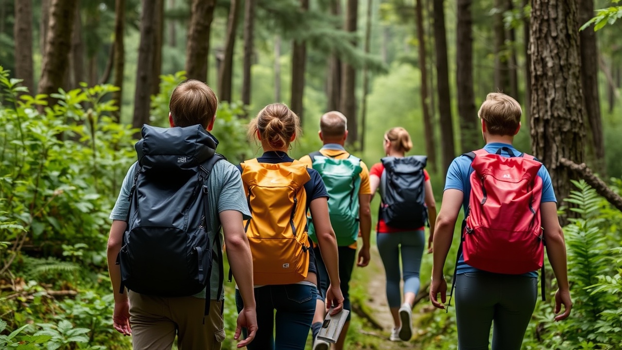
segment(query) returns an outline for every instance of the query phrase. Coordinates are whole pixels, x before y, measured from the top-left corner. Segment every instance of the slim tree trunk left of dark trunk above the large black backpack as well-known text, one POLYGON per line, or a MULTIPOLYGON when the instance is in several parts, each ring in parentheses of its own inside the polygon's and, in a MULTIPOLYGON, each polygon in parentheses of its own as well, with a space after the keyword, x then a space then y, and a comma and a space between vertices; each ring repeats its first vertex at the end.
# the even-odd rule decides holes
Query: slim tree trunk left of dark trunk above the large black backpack
POLYGON ((123 44, 125 22, 125 0, 114 1, 114 86, 119 90, 113 92, 112 98, 119 109, 112 113, 113 120, 121 120, 121 103, 123 98, 123 73, 125 69, 125 45, 123 44))

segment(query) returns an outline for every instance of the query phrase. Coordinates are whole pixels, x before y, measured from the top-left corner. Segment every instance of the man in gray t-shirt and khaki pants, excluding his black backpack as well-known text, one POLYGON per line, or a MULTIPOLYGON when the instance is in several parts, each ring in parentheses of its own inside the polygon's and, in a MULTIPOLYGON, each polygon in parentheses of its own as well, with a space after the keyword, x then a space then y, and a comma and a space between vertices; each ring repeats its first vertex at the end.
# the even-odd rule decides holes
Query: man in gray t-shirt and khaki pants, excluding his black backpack
MULTIPOLYGON (((170 97, 170 126, 183 128, 201 125, 198 130, 205 129, 206 135, 203 136, 207 136, 205 139, 211 138, 210 143, 213 145, 211 152, 213 152, 218 141, 209 131, 214 126, 217 106, 216 95, 207 84, 198 80, 182 82, 170 97)), ((179 140, 179 144, 184 142, 185 140, 179 140)), ((213 260, 211 275, 208 277, 210 290, 204 289, 198 295, 167 298, 144 295, 131 290, 119 293, 121 269, 115 262, 123 244, 124 231, 128 227, 126 221, 130 210, 128 197, 132 186, 135 185, 134 174, 137 174, 139 166, 137 162, 129 169, 110 214, 113 224, 108 238, 108 271, 114 291, 113 326, 121 334, 132 335, 135 350, 170 350, 175 336, 178 338, 177 345, 180 350, 219 350, 221 342, 225 339, 225 327, 223 295, 216 295, 222 288, 217 259, 213 260), (206 300, 206 293, 210 293, 210 300, 206 300), (210 303, 208 315, 205 315, 205 303, 210 303)), ((207 179, 207 187, 209 218, 205 220, 208 219, 209 225, 204 229, 209 242, 223 242, 220 237, 222 226, 231 270, 244 300, 244 310, 239 313, 234 338, 239 338, 242 327, 247 328, 248 337, 238 344, 239 347, 246 346, 253 340, 257 329, 253 295, 253 261, 243 227, 243 219, 249 219, 250 213, 242 181, 233 164, 225 160, 217 161, 207 179)), ((175 212, 181 209, 170 208, 170 210, 175 212)), ((200 228, 203 229, 202 226, 200 228)), ((222 247, 215 246, 214 249, 222 247)))

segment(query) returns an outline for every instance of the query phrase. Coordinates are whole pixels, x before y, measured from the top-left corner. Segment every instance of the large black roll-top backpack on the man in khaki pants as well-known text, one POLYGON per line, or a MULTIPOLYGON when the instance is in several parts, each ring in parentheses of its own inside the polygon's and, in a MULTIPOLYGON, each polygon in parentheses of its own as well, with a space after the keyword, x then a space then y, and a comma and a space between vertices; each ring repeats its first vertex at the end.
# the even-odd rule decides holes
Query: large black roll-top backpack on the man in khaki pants
POLYGON ((210 242, 207 179, 223 156, 218 141, 200 125, 144 125, 136 143, 138 164, 129 194, 128 227, 117 263, 121 288, 154 296, 190 296, 206 290, 209 313, 211 265, 223 257, 220 230, 210 242))

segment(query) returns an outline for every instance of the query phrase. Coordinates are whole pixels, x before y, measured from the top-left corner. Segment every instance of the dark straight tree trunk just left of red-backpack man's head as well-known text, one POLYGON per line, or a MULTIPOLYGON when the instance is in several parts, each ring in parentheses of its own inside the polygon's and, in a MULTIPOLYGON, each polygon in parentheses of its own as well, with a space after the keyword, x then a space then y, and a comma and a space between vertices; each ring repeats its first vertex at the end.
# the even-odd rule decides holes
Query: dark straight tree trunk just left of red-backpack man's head
POLYGON ((456 26, 456 82, 458 90, 458 116, 460 116, 460 141, 462 152, 478 149, 481 134, 475 109, 473 92, 473 37, 471 31, 471 0, 458 0, 456 26))

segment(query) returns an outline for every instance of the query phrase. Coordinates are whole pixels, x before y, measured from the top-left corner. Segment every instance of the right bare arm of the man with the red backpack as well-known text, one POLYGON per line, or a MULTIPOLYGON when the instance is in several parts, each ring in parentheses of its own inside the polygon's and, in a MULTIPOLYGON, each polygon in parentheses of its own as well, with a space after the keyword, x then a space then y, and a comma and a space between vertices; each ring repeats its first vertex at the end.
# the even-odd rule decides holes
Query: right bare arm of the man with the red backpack
POLYGON ((557 219, 557 204, 544 202, 540 206, 542 228, 544 229, 544 242, 550 267, 553 268, 558 290, 555 293, 555 313, 559 314, 561 305, 564 304, 564 313, 555 316, 555 321, 560 321, 570 315, 572 300, 570 299, 570 286, 568 283, 568 270, 566 260, 566 245, 564 231, 557 219))

